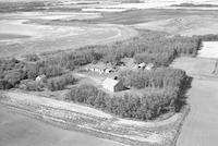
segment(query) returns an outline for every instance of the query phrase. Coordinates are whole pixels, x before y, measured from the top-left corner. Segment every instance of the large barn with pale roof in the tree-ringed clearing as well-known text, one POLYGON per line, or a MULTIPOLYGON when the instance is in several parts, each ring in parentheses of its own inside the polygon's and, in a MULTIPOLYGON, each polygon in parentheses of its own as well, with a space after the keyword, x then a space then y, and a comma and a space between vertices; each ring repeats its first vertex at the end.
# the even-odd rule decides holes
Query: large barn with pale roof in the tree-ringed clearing
POLYGON ((112 78, 106 78, 102 82, 102 87, 107 90, 110 90, 112 93, 120 92, 124 89, 124 85, 122 82, 118 80, 112 80, 112 78))

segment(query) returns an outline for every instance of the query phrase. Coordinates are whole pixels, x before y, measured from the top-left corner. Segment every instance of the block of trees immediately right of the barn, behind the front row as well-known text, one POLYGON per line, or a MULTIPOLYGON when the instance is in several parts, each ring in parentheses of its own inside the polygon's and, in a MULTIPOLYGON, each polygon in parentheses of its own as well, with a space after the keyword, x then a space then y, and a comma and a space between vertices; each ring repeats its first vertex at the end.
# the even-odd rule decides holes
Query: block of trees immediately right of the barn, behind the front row
POLYGON ((125 86, 130 87, 167 88, 181 87, 186 80, 186 74, 184 71, 179 69, 158 68, 153 71, 122 71, 119 73, 119 78, 125 86))

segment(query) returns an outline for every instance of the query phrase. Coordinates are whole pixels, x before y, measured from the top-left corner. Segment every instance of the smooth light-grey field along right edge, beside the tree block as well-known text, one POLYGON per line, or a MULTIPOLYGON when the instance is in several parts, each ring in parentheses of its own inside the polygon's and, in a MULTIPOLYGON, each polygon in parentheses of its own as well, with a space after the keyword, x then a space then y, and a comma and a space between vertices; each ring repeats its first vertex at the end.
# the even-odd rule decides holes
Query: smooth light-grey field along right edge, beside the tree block
POLYGON ((218 78, 211 74, 209 59, 179 59, 172 64, 194 77, 187 93, 191 111, 178 139, 178 146, 218 145, 218 78), (192 61, 191 61, 192 60, 192 61))

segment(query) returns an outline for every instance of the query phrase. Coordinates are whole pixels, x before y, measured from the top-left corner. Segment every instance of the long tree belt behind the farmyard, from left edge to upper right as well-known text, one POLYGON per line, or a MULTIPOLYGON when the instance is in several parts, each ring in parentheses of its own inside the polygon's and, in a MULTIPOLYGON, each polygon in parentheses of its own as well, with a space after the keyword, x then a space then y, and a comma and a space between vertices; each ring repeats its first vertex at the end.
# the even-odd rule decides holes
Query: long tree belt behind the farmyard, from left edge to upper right
POLYGON ((136 63, 167 66, 178 56, 195 56, 201 40, 198 37, 169 36, 166 33, 146 31, 129 40, 105 46, 86 46, 72 52, 60 52, 45 60, 35 56, 29 57, 32 62, 1 59, 0 88, 16 87, 22 80, 35 80, 41 74, 48 78, 60 76, 92 62, 118 64, 125 57, 134 58, 136 63))

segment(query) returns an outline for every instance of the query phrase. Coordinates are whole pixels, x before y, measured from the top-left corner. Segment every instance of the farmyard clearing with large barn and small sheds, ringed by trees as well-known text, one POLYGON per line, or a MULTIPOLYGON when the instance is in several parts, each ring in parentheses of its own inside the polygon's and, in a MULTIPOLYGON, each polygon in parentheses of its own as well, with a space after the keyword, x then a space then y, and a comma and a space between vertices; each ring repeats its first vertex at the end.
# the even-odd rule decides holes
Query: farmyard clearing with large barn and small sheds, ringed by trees
POLYGON ((126 89, 126 87, 122 84, 118 78, 119 71, 122 70, 147 70, 150 71, 155 69, 155 64, 153 63, 134 63, 133 60, 125 60, 122 63, 117 65, 106 64, 106 63, 97 63, 97 64, 88 64, 83 68, 86 76, 90 78, 99 80, 100 86, 104 89, 107 89, 111 93, 117 93, 126 89))

